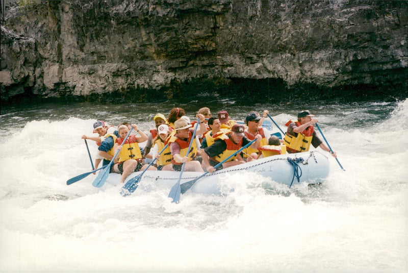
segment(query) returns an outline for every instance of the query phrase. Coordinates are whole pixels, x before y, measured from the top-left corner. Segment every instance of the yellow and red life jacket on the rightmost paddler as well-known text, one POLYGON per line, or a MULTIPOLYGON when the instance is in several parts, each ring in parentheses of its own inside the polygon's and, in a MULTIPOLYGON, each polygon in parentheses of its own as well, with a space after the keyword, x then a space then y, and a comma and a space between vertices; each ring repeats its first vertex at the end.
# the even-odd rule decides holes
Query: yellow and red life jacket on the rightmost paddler
MULTIPOLYGON (((295 120, 289 120, 285 126, 289 126, 291 122, 295 122, 299 127, 301 123, 295 120)), ((314 128, 313 125, 306 128, 300 133, 297 133, 297 136, 289 135, 288 132, 285 133, 284 143, 286 145, 287 151, 289 153, 299 153, 299 152, 308 152, 310 144, 312 143, 314 128)))

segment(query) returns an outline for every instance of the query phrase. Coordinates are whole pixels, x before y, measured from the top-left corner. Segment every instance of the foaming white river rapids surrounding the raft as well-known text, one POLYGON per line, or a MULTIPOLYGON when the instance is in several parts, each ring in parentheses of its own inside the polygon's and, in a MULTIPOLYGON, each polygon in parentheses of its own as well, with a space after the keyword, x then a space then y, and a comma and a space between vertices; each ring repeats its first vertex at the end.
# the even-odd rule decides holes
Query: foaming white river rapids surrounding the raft
MULTIPOLYGON (((0 116, 2 272, 406 272, 408 269, 408 100, 240 106, 47 104, 8 107, 0 116), (186 193, 170 202, 152 185, 122 197, 93 187, 82 134, 96 119, 136 122, 147 132, 157 112, 200 107, 243 119, 270 111, 284 124, 316 114, 342 171, 330 157, 321 186, 287 186, 241 172, 225 196, 186 193)), ((97 148, 88 141, 94 159, 97 148)))

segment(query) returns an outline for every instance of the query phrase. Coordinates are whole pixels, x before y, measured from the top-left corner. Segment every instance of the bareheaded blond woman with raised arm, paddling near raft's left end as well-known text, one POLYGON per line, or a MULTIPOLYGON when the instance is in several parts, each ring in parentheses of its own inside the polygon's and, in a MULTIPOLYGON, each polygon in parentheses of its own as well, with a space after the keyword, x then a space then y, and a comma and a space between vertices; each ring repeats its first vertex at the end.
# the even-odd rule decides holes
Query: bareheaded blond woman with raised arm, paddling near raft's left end
MULTIPOLYGON (((140 152, 140 147, 138 142, 143 142, 147 140, 147 136, 139 128, 132 124, 133 129, 140 134, 136 136, 130 134, 127 139, 124 139, 129 132, 129 129, 125 125, 121 125, 118 128, 119 137, 116 139, 114 145, 114 153, 120 149, 119 155, 115 158, 113 165, 113 172, 120 173, 122 177, 119 183, 123 183, 126 177, 128 177, 132 172, 143 170, 147 165, 142 163, 142 153, 140 152), (124 141, 123 145, 122 142, 124 141)), ((150 166, 149 169, 156 169, 154 166, 150 166)))

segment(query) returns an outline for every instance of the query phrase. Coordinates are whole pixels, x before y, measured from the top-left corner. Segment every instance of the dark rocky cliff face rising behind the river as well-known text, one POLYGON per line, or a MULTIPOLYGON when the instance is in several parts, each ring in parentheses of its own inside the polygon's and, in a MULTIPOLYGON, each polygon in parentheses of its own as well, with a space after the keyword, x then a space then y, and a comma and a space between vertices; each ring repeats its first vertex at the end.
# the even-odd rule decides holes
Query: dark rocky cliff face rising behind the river
POLYGON ((406 1, 370 0, 14 3, 1 28, 2 101, 102 93, 143 101, 186 95, 188 85, 403 97, 407 10, 406 1))

